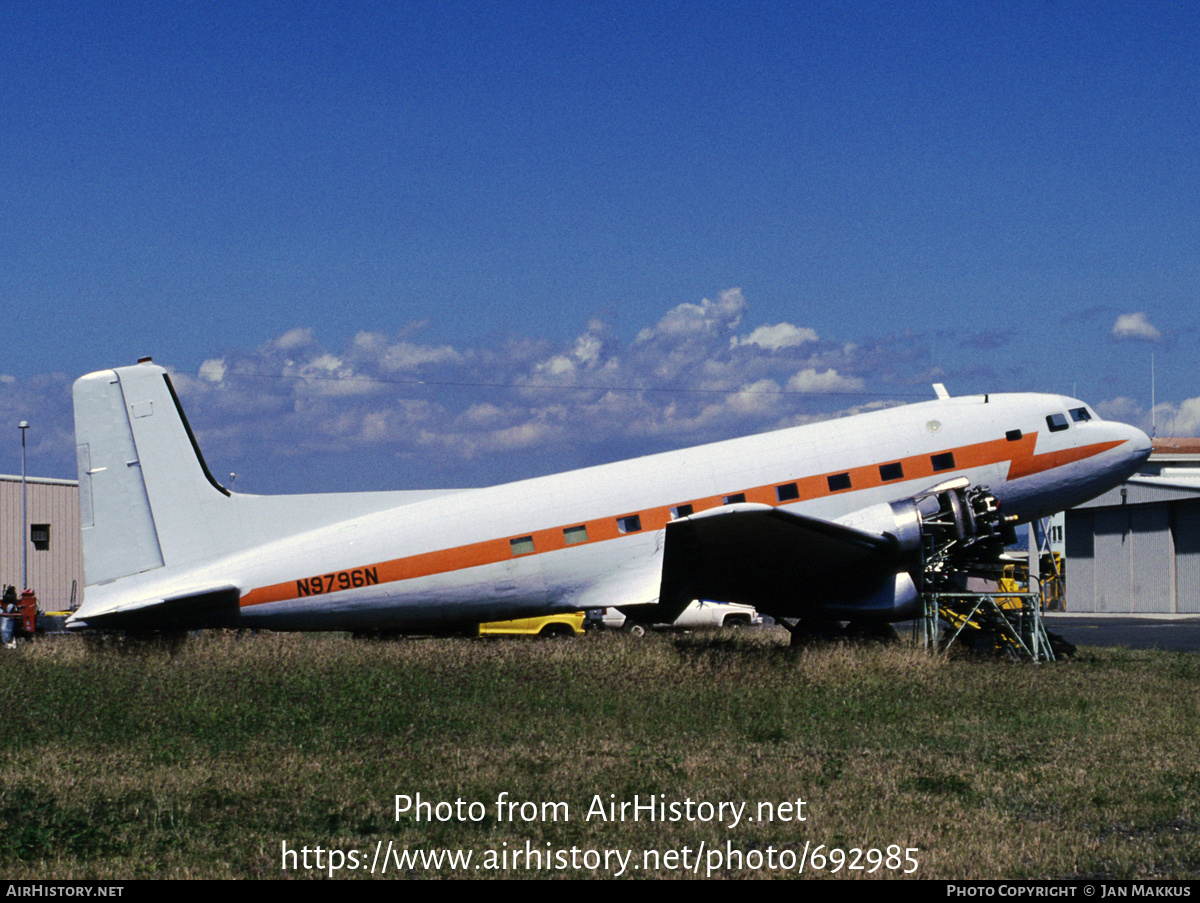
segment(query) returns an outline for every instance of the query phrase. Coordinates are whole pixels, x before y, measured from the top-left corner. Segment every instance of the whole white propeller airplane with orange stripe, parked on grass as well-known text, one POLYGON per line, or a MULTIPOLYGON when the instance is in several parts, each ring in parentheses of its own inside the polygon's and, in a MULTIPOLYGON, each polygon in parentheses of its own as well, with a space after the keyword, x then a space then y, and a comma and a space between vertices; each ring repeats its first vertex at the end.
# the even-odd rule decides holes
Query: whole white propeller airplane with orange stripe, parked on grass
POLYGON ((929 549, 994 546, 1150 455, 1074 399, 935 389, 488 489, 253 496, 212 478, 161 366, 91 373, 74 384, 86 590, 68 627, 418 632, 646 604, 670 622, 697 598, 904 620, 929 549))

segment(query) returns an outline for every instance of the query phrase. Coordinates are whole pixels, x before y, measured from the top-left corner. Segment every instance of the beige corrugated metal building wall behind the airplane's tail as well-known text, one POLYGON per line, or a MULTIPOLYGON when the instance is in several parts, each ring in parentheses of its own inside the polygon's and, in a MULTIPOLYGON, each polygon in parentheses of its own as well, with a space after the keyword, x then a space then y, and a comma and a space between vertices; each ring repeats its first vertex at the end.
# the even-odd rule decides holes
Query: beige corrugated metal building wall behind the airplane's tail
POLYGON ((20 591, 22 539, 29 549, 29 585, 43 611, 62 611, 71 604, 76 582, 83 598, 83 549, 79 540, 79 489, 73 483, 29 480, 30 524, 49 524, 47 549, 36 549, 22 537, 20 477, 0 477, 0 585, 20 591))

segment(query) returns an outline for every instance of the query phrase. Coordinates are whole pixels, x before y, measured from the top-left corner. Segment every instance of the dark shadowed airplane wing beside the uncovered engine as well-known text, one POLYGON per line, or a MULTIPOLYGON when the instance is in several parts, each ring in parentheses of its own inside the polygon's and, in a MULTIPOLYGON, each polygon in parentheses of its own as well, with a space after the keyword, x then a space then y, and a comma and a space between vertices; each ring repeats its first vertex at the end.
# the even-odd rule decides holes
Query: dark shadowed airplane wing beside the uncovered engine
MULTIPOLYGON (((780 617, 870 615, 907 594, 898 585, 899 544, 888 533, 794 514, 766 504, 731 504, 666 527, 660 616, 692 599, 739 602, 780 617)), ((910 584, 911 584, 911 579, 910 584)))

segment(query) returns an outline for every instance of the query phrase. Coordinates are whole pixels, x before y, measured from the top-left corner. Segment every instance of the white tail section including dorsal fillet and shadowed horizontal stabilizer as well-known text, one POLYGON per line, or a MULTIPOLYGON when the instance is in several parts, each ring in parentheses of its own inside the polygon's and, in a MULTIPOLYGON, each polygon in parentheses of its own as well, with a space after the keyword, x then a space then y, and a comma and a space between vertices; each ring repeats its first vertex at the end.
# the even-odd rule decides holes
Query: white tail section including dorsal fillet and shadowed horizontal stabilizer
POLYGON ((149 361, 74 384, 83 606, 72 629, 235 622, 258 546, 439 492, 230 494, 204 464, 170 377, 149 361))

